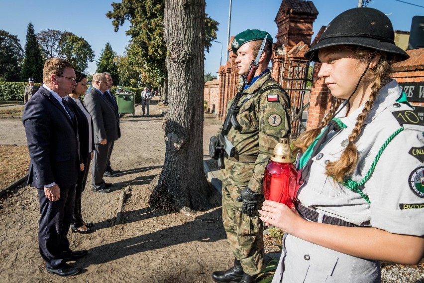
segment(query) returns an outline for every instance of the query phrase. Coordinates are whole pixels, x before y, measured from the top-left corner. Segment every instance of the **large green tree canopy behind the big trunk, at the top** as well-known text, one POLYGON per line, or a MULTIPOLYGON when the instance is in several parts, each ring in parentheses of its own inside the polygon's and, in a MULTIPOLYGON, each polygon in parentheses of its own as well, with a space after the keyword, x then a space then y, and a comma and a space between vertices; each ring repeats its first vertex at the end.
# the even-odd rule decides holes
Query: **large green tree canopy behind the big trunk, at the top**
MULTIPOLYGON (((106 16, 112 19, 115 31, 125 20, 131 23, 126 34, 132 40, 128 48, 128 63, 139 68, 141 80, 152 85, 162 85, 167 78, 165 59, 166 45, 163 37, 163 18, 165 0, 122 0, 113 2, 113 11, 106 16)), ((218 22, 207 14, 205 16, 205 49, 209 52, 212 41, 216 39, 218 22)))

